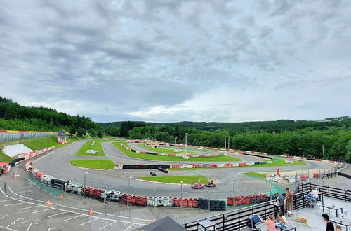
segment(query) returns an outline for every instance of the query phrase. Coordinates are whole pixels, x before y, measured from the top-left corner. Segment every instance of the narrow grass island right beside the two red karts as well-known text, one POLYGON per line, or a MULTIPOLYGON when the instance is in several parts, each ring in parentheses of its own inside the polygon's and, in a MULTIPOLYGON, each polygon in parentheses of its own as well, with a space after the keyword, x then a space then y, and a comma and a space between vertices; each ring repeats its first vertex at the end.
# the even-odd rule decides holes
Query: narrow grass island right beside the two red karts
POLYGON ((210 181, 204 176, 145 176, 139 177, 139 179, 164 183, 180 183, 180 181, 183 181, 185 184, 207 183, 210 181))

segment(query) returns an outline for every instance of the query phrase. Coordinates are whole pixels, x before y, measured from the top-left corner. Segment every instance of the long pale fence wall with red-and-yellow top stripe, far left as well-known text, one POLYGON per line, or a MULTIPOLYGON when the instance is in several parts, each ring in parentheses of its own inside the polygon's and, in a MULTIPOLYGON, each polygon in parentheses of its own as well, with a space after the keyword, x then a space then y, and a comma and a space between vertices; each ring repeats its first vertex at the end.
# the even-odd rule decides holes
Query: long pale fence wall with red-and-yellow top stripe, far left
POLYGON ((14 139, 47 137, 47 136, 52 136, 57 134, 58 134, 57 132, 0 130, 0 142, 11 141, 14 139))

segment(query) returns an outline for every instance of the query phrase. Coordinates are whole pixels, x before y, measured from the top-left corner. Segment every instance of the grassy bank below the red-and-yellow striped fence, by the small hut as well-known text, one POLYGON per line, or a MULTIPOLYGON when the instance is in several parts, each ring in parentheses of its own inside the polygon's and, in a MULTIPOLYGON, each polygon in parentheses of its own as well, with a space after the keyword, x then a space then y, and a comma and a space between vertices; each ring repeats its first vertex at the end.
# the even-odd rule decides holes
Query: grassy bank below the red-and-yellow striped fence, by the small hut
POLYGON ((77 137, 72 137, 69 138, 71 141, 68 142, 67 144, 58 144, 58 139, 55 136, 50 136, 50 137, 42 137, 38 139, 31 139, 27 141, 23 141, 23 144, 27 146, 28 148, 32 150, 41 150, 43 148, 48 148, 51 146, 55 146, 55 148, 60 148, 63 146, 67 146, 68 144, 71 144, 73 141, 78 140, 79 138, 77 137))

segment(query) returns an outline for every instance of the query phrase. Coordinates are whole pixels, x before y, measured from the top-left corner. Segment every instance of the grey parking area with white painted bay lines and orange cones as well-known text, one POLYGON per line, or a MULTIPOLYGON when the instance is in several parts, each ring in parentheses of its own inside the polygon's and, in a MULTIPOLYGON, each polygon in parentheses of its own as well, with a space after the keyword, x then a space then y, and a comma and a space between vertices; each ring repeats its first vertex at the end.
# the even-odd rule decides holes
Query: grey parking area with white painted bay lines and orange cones
MULTIPOLYGON (((146 223, 133 219, 112 219, 103 215, 56 209, 15 200, 0 193, 0 230, 134 230, 146 223)), ((150 223, 150 222, 148 222, 150 223)))

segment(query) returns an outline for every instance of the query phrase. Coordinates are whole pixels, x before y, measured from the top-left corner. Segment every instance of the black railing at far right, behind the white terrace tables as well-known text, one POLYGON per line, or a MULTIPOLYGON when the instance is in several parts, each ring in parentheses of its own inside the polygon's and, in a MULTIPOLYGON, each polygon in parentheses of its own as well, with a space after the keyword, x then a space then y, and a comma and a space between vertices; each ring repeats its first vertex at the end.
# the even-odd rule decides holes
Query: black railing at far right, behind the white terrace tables
POLYGON ((298 185, 298 192, 305 190, 311 190, 312 187, 315 187, 319 192, 323 193, 326 197, 331 197, 339 200, 345 200, 345 202, 351 202, 351 190, 347 188, 336 188, 333 186, 322 186, 315 183, 300 183, 298 185))

